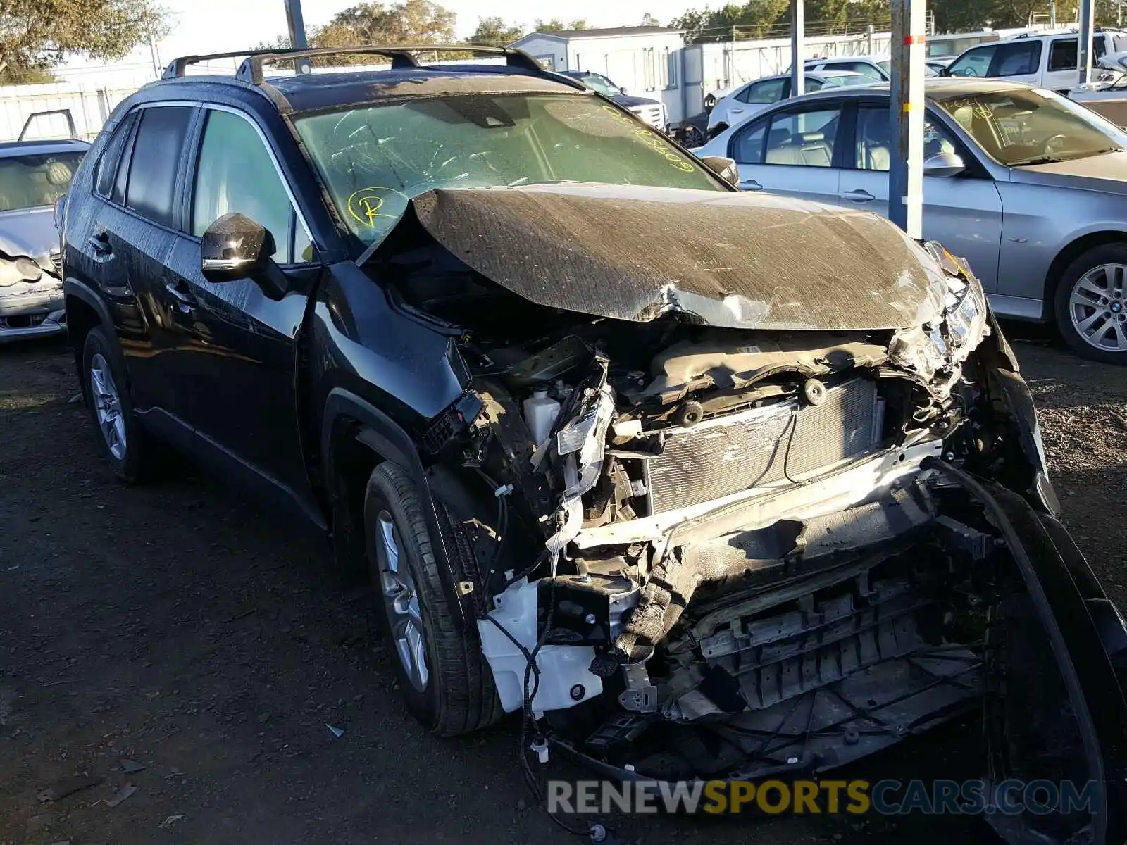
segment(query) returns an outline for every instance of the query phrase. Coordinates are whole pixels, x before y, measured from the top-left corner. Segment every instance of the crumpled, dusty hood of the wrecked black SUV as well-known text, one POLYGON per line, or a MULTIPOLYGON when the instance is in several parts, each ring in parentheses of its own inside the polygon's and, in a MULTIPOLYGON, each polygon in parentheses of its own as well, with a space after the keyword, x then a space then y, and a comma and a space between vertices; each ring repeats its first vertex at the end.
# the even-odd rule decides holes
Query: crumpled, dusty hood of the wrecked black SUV
POLYGON ((942 313, 934 261, 868 212, 771 195, 554 184, 432 190, 423 226, 532 302, 646 322, 899 329, 942 313))

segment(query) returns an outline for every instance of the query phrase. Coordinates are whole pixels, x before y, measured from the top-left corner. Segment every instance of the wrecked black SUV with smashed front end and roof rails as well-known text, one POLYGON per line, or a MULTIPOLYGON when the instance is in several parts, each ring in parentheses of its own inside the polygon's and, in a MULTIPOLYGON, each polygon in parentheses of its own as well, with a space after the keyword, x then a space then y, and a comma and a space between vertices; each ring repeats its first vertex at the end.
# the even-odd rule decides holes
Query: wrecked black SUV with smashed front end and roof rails
POLYGON ((335 52, 392 64, 176 60, 80 167, 114 473, 160 441, 331 531, 440 735, 521 711, 522 755, 606 776, 814 776, 985 696, 992 779, 1094 802, 1002 835, 1121 842, 1127 629, 966 265, 740 194, 518 51, 335 52))

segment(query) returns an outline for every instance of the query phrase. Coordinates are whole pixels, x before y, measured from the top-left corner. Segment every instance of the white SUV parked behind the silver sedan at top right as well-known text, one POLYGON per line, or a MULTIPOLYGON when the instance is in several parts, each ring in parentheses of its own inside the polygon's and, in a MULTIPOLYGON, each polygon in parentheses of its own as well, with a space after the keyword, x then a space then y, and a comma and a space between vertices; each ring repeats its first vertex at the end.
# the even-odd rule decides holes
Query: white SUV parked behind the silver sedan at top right
MULTIPOLYGON (((1092 34, 1092 66, 1107 53, 1127 51, 1127 33, 1102 29, 1092 34)), ((1080 83, 1080 38, 1075 32, 1019 35, 964 51, 943 77, 1004 77, 1061 94, 1080 83)), ((1093 71, 1094 75, 1108 71, 1093 71)))

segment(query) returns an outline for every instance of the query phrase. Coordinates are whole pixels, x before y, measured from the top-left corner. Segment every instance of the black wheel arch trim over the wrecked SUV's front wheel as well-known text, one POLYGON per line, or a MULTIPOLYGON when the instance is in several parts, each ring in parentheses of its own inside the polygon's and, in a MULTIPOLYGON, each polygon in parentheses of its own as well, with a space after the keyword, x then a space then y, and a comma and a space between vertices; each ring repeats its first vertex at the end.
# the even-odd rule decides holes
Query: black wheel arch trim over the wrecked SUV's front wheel
POLYGON ((423 517, 426 519, 427 531, 431 533, 435 560, 443 573, 442 588, 446 594, 446 604, 454 614, 454 623, 462 629, 473 624, 471 616, 465 613, 462 596, 458 593, 459 579, 450 563, 450 550, 446 548, 444 532, 438 525, 438 514, 434 507, 431 483, 415 442, 398 422, 363 397, 345 388, 332 388, 325 400, 321 416, 321 461, 326 480, 334 478, 334 450, 337 445, 335 433, 338 430, 337 422, 340 419, 358 422, 361 430, 356 439, 382 459, 398 464, 410 474, 423 502, 423 517))

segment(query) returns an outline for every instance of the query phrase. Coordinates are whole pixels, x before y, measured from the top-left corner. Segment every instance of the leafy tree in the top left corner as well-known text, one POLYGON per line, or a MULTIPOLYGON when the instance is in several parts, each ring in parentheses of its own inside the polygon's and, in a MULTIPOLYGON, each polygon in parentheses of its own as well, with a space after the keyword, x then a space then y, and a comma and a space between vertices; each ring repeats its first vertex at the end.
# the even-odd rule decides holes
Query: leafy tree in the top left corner
POLYGON ((168 33, 153 0, 0 0, 0 80, 36 81, 68 56, 121 59, 168 33))

